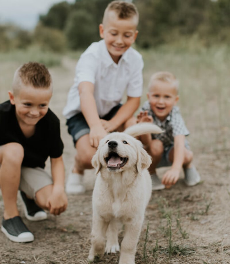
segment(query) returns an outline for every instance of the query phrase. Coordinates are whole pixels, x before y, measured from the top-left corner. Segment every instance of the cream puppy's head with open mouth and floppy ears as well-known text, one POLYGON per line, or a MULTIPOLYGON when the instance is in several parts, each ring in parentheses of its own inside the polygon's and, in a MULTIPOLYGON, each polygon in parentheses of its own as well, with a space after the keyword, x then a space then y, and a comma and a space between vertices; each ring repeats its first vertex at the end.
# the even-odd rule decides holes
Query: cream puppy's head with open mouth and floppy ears
MULTIPOLYGON (((151 158, 143 149, 141 141, 127 133, 113 132, 101 139, 95 155, 92 158, 92 165, 96 173, 101 171, 102 177, 110 178, 111 173, 132 172, 135 177, 144 168, 151 164, 151 158), (107 175, 107 176, 106 176, 107 175)), ((129 176, 128 176, 129 177, 129 176)))

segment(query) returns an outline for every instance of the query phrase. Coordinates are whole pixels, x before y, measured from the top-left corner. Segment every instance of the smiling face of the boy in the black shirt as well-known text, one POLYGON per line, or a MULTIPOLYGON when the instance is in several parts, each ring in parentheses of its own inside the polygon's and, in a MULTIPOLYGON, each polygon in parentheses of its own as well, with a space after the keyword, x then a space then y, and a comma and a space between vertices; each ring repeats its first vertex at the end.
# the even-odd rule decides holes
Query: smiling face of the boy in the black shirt
POLYGON ((47 113, 51 96, 51 88, 32 86, 20 88, 16 95, 9 92, 10 102, 15 105, 19 125, 35 126, 47 113))

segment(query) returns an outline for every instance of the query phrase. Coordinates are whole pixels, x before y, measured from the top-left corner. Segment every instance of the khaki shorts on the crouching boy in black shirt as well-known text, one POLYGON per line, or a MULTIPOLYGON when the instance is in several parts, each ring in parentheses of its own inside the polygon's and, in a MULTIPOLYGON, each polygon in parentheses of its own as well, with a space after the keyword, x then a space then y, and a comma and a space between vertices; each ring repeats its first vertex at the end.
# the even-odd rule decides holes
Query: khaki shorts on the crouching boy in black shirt
POLYGON ((51 184, 53 184, 52 177, 44 169, 22 166, 19 190, 26 193, 29 197, 35 199, 37 191, 51 184))

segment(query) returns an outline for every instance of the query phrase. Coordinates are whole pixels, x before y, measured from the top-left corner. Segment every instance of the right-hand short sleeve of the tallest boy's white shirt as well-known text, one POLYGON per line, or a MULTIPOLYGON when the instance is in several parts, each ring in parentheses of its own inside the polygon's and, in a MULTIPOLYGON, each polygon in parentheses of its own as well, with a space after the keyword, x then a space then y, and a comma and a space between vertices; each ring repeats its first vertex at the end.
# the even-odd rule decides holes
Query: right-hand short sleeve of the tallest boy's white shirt
POLYGON ((131 76, 129 79, 129 84, 127 87, 127 96, 130 97, 139 97, 142 95, 142 87, 143 87, 143 76, 142 70, 144 67, 142 57, 137 57, 136 61, 133 61, 133 67, 131 76))

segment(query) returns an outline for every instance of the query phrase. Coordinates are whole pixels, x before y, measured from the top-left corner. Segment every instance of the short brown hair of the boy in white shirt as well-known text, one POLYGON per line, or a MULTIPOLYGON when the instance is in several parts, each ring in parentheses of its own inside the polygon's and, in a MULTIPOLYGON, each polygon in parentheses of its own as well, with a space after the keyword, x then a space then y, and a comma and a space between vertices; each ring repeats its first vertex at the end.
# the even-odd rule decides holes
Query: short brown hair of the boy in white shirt
POLYGON ((137 17, 137 24, 139 21, 139 13, 137 7, 133 3, 128 3, 124 1, 112 1, 108 4, 105 9, 102 23, 105 22, 105 17, 109 11, 115 11, 119 19, 137 17))

